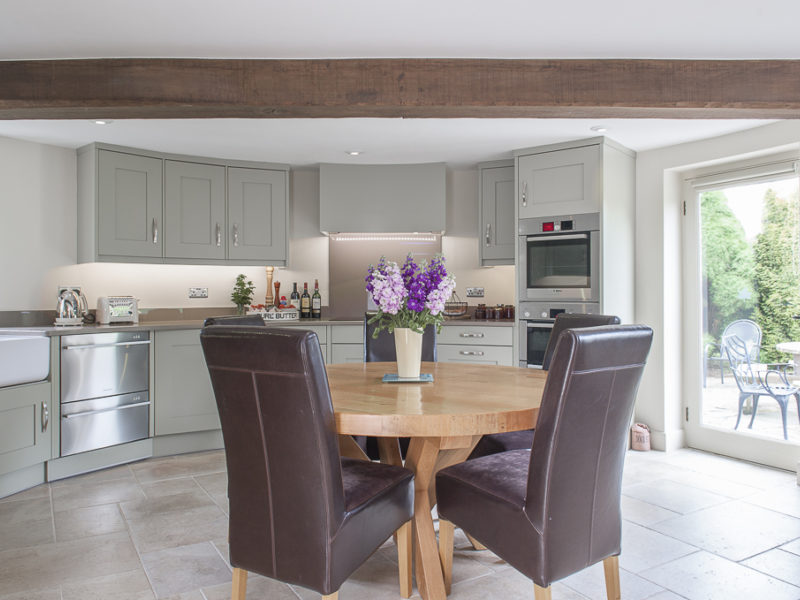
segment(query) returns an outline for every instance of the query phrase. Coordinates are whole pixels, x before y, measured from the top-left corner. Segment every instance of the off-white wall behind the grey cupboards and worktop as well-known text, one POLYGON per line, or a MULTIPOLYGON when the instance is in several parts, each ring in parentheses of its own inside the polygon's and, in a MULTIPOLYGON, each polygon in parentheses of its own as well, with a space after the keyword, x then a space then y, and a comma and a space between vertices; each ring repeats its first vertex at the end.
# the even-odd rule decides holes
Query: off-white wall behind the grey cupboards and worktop
MULTIPOLYGON (((202 265, 76 264, 77 161, 74 150, 0 138, 0 310, 52 310, 59 285, 79 285, 89 301, 134 295, 141 308, 232 305, 236 275, 266 295, 264 267, 202 265), (189 287, 208 287, 207 299, 189 299, 189 287)), ((513 301, 513 267, 478 267, 477 171, 448 175, 448 235, 443 249, 459 290, 486 288, 487 303, 513 301)), ((319 172, 291 174, 290 264, 276 269, 281 293, 291 283, 319 279, 323 304, 328 291, 328 239, 319 232, 319 172)), ((288 288, 288 289, 287 289, 288 288)))

